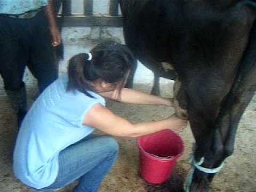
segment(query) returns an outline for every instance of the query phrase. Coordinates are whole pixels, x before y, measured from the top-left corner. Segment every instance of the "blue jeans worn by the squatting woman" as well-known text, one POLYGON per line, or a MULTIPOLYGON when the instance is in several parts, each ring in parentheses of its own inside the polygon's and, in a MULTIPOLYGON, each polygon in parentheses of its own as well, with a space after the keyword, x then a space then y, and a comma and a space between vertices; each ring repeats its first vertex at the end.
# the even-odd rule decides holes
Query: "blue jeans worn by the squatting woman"
POLYGON ((39 190, 54 190, 79 179, 74 192, 97 191, 118 154, 118 143, 108 135, 91 134, 62 150, 59 173, 51 186, 39 190))

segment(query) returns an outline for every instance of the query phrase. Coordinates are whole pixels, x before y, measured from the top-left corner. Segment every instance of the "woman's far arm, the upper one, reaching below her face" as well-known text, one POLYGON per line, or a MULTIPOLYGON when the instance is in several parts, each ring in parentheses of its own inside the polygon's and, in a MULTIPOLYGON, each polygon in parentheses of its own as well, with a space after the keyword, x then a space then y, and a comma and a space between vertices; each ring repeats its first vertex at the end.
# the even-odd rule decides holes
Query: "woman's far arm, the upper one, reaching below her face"
POLYGON ((166 105, 173 107, 173 98, 162 98, 153 94, 143 93, 141 91, 123 88, 118 95, 118 90, 113 92, 99 93, 103 97, 126 103, 148 104, 148 105, 166 105))

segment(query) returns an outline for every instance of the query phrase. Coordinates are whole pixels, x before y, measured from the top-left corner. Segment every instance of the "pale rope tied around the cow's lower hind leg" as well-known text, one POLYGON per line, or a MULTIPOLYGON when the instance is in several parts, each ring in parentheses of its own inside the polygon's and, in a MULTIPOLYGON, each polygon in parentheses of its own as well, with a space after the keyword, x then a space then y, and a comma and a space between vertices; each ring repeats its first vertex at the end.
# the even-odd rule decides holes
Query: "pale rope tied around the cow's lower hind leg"
POLYGON ((192 167, 191 167, 191 170, 189 171, 187 181, 184 184, 184 190, 186 192, 189 192, 190 185, 191 185, 191 182, 192 182, 192 179, 193 179, 193 174, 195 172, 195 168, 198 169, 199 171, 204 172, 204 173, 217 173, 221 170, 221 168, 223 167, 223 164, 224 164, 224 162, 222 162, 219 167, 210 169, 210 168, 200 166, 200 165, 203 164, 203 162, 204 162, 204 157, 202 157, 199 162, 196 162, 195 158, 194 158, 194 155, 193 154, 190 155, 189 163, 191 163, 192 167))

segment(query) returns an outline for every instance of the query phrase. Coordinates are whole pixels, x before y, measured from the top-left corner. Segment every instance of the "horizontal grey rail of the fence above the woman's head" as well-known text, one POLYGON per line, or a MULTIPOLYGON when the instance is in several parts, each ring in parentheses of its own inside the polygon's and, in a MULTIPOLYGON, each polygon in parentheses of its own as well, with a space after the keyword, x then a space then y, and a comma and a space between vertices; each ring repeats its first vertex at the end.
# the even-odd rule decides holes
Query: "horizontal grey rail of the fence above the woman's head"
POLYGON ((61 23, 62 26, 112 26, 120 27, 123 25, 121 16, 109 15, 72 15, 72 16, 59 16, 57 24, 61 23), (61 23, 62 22, 62 23, 61 23))

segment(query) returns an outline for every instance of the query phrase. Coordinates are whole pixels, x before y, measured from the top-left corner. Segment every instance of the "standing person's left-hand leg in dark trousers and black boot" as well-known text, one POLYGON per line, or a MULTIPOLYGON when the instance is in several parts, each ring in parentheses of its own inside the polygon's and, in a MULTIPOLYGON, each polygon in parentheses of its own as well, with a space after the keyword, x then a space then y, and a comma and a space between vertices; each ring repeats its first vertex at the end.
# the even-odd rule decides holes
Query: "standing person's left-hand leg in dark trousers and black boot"
POLYGON ((23 34, 26 34, 23 29, 21 20, 0 16, 0 74, 19 124, 27 111, 25 83, 22 82, 27 55, 22 45, 23 34))

